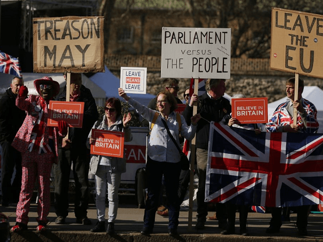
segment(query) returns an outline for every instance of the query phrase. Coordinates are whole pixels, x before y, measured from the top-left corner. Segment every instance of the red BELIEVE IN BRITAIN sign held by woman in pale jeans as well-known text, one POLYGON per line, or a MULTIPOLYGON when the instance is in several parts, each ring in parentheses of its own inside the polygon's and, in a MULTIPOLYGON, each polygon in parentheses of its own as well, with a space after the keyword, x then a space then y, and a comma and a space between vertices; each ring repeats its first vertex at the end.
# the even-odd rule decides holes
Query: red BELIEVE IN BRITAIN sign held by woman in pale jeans
POLYGON ((95 144, 91 145, 91 154, 123 158, 124 133, 117 131, 92 129, 95 144))

